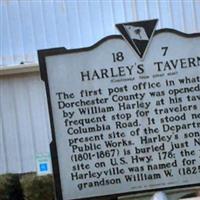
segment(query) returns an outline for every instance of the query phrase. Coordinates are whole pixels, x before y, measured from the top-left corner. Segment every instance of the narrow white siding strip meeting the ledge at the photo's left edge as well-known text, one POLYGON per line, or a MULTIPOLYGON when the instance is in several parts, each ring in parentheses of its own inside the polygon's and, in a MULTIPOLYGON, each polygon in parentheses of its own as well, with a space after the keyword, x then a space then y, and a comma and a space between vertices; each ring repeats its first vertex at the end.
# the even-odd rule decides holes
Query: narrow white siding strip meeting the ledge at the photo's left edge
POLYGON ((14 82, 8 79, 3 81, 1 89, 3 95, 1 96, 1 111, 2 121, 4 127, 4 138, 6 147, 6 160, 9 172, 20 172, 20 152, 18 144, 18 124, 15 112, 15 102, 13 96, 14 82))

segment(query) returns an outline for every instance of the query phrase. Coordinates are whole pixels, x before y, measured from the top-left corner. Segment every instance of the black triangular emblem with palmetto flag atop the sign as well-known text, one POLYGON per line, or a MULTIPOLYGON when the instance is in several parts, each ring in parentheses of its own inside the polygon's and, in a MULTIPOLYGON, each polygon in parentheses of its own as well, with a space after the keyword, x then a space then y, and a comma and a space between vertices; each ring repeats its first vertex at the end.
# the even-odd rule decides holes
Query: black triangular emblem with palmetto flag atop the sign
POLYGON ((116 24, 116 27, 131 48, 139 55, 140 59, 143 59, 153 37, 157 22, 157 19, 153 19, 116 24))

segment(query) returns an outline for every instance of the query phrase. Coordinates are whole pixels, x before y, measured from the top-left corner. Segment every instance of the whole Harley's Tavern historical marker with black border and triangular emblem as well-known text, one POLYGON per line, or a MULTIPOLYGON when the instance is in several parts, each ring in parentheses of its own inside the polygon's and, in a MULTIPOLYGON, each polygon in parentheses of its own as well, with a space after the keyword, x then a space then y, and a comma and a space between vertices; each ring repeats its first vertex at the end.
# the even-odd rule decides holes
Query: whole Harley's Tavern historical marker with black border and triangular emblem
POLYGON ((38 52, 59 200, 199 185, 200 34, 156 23, 38 52))

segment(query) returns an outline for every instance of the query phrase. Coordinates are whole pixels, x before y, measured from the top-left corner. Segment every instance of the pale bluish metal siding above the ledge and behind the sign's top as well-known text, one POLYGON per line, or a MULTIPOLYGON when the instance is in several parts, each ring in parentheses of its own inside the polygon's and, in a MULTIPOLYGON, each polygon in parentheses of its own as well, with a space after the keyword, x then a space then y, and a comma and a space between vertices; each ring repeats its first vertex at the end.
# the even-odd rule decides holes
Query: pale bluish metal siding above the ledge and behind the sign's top
POLYGON ((114 24, 159 18, 158 28, 199 30, 199 1, 1 1, 0 65, 37 62, 37 49, 91 45, 118 33, 114 24))

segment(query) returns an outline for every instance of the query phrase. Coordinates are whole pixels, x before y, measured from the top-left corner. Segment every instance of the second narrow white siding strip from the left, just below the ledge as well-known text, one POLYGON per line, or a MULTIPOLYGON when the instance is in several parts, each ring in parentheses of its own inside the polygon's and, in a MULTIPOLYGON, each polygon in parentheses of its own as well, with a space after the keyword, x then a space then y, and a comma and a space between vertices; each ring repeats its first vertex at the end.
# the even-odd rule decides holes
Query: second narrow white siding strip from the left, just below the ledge
POLYGON ((21 172, 33 171, 34 163, 34 143, 32 137, 32 125, 29 112, 28 88, 27 82, 30 80, 30 76, 24 78, 23 76, 17 76, 15 78, 14 94, 16 105, 16 117, 18 120, 19 129, 19 150, 21 154, 21 172))

